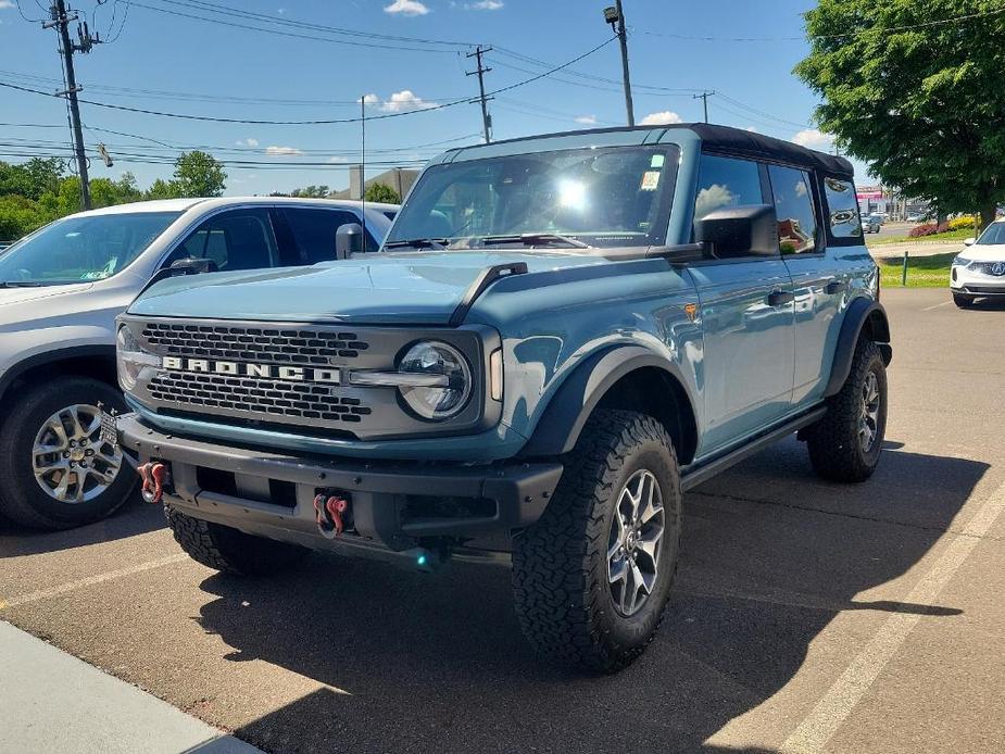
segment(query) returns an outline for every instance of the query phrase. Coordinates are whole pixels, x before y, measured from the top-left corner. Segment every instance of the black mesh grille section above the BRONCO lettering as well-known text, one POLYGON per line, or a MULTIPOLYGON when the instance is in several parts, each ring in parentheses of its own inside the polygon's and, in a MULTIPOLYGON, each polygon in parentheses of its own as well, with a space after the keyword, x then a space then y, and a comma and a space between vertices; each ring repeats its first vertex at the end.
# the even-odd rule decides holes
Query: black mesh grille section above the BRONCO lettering
POLYGON ((369 348, 355 332, 226 325, 149 323, 143 338, 171 356, 281 364, 344 363, 369 348))

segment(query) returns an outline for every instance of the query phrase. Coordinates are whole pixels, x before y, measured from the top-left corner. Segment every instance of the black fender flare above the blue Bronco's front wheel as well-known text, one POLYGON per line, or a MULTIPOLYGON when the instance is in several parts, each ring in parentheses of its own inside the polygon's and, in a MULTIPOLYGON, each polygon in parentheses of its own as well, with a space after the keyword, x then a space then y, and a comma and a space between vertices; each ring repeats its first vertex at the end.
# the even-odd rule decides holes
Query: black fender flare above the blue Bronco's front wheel
MULTIPOLYGON (((679 385, 684 385, 675 364, 646 348, 613 345, 603 349, 576 366, 558 386, 520 455, 554 456, 573 450, 587 419, 611 387, 643 367, 662 369, 679 385)), ((691 411, 693 413, 693 402, 691 411)))

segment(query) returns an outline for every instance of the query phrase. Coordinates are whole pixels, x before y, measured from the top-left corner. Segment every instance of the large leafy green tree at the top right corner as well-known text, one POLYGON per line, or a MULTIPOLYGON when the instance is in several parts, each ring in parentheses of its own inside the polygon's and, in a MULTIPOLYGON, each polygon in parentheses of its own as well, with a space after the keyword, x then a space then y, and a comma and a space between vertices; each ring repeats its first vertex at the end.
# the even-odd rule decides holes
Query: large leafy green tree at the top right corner
POLYGON ((941 211, 978 210, 984 225, 1005 200, 1001 8, 819 0, 805 16, 811 52, 795 67, 824 98, 820 128, 849 154, 941 211))

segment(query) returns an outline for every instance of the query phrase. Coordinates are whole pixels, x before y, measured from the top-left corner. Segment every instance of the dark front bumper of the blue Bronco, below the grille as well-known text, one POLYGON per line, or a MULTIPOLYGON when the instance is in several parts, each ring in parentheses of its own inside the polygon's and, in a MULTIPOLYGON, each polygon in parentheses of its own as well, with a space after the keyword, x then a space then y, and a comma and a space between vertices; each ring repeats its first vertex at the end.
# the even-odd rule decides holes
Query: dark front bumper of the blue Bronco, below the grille
POLYGON ((562 476, 558 463, 445 465, 285 455, 179 438, 118 417, 120 442, 171 470, 164 501, 196 518, 252 535, 329 549, 318 494, 348 497, 347 543, 401 551, 430 538, 474 538, 533 524, 562 476))

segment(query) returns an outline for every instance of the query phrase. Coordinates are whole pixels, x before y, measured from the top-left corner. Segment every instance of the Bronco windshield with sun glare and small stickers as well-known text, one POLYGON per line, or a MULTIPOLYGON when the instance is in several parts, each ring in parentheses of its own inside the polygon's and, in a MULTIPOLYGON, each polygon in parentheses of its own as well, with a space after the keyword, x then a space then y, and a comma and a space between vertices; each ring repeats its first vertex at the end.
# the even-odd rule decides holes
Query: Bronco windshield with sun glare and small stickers
POLYGON ((666 238, 677 158, 676 147, 613 147, 434 165, 387 243, 657 246, 666 238))

